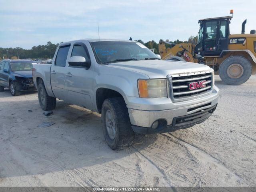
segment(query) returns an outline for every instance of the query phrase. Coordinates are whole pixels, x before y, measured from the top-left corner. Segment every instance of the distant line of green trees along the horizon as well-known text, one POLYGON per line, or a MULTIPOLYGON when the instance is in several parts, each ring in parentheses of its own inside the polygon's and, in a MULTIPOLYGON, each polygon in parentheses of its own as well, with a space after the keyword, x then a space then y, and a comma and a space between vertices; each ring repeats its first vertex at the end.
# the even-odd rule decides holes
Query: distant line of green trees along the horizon
MULTIPOLYGON (((187 41, 184 41, 184 43, 192 42, 194 37, 190 37, 187 41)), ((138 42, 144 44, 147 48, 149 49, 154 49, 155 54, 159 54, 158 52, 158 43, 155 42, 154 40, 148 41, 144 43, 142 40, 137 40, 138 42)), ((183 41, 180 40, 175 40, 175 41, 170 41, 166 40, 167 42, 179 44, 183 43, 183 41)), ((53 44, 52 42, 47 42, 46 45, 38 45, 38 46, 33 46, 31 49, 23 49, 20 47, 16 48, 0 48, 0 59, 36 59, 36 58, 53 58, 54 53, 56 48, 58 47, 57 44, 53 44)), ((166 48, 169 45, 166 44, 166 48)))

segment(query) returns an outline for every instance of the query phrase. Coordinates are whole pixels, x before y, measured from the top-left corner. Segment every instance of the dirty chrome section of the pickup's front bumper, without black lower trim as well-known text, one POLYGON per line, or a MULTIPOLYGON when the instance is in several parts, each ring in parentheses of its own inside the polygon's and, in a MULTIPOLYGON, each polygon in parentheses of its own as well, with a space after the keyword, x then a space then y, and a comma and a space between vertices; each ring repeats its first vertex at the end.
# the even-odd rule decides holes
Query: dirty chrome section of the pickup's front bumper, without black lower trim
POLYGON ((164 120, 166 122, 166 126, 171 126, 173 125, 174 118, 188 116, 190 114, 194 114, 196 112, 200 112, 202 110, 212 108, 216 106, 217 103, 218 103, 218 96, 215 96, 211 100, 207 100, 198 104, 193 104, 193 105, 175 108, 171 110, 149 111, 149 110, 138 110, 138 109, 128 108, 128 112, 130 116, 130 122, 133 128, 137 129, 137 131, 135 132, 140 132, 138 131, 140 127, 150 128, 156 120, 164 120))

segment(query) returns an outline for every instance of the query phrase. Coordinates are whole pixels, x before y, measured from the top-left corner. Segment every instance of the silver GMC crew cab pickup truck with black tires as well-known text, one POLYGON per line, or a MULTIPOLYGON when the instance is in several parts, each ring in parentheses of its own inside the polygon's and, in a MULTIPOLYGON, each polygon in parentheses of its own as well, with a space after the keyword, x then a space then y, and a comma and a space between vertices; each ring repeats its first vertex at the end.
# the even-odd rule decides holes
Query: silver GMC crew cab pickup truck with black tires
POLYGON ((112 149, 132 144, 134 133, 189 128, 216 109, 219 89, 203 64, 160 60, 136 41, 76 40, 58 46, 52 64, 33 64, 43 110, 56 98, 101 113, 112 149))

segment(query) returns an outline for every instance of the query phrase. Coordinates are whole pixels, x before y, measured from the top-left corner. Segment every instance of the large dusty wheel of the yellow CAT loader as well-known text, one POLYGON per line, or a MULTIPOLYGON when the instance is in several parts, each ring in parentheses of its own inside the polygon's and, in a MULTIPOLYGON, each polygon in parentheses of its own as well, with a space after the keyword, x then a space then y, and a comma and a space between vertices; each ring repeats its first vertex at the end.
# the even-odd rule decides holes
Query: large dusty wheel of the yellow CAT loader
POLYGON ((240 85, 246 82, 252 74, 252 65, 242 56, 226 58, 219 68, 222 81, 229 85, 240 85))

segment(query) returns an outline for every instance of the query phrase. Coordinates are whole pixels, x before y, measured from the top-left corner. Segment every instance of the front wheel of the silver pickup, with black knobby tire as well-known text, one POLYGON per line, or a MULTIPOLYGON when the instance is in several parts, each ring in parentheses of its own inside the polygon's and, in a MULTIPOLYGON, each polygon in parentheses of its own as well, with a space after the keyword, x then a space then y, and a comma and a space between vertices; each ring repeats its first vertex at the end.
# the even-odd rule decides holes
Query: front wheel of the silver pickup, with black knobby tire
POLYGON ((132 145, 134 132, 123 98, 109 98, 102 104, 102 128, 105 140, 113 150, 132 145))

